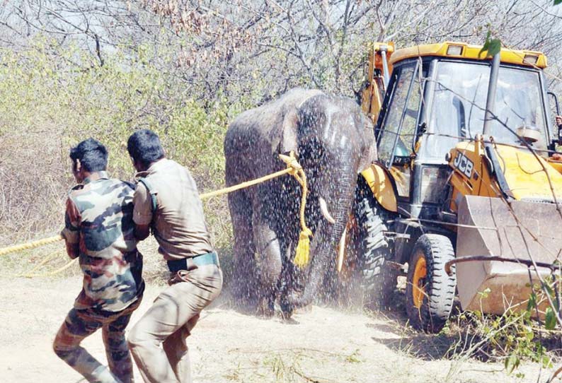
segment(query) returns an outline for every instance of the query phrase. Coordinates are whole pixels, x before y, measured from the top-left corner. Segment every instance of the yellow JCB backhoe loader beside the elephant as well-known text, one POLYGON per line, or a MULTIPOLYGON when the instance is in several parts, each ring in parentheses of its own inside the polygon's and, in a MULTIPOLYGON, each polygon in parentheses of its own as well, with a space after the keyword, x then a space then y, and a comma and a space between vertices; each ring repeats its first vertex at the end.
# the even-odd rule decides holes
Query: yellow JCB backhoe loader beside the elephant
POLYGON ((442 329, 457 296, 464 310, 527 307, 562 254, 562 163, 551 158, 562 126, 546 57, 481 51, 375 43, 366 66, 378 160, 359 175, 349 236, 372 300, 389 305, 406 275, 408 318, 424 331, 442 329))

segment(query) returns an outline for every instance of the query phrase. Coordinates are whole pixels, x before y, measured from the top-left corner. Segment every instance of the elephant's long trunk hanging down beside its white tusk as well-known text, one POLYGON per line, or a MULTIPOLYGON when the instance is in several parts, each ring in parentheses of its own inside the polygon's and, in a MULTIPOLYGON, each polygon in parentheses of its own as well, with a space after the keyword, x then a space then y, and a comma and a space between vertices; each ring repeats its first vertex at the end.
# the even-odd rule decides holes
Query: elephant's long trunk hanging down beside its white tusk
POLYGON ((357 182, 355 170, 348 166, 338 176, 338 182, 333 184, 333 189, 328 192, 327 207, 333 216, 333 223, 322 219, 314 233, 314 242, 311 244, 311 266, 309 276, 301 295, 289 296, 289 305, 292 308, 309 305, 323 284, 328 267, 336 260, 336 247, 340 242, 343 231, 348 223, 350 208, 357 182))

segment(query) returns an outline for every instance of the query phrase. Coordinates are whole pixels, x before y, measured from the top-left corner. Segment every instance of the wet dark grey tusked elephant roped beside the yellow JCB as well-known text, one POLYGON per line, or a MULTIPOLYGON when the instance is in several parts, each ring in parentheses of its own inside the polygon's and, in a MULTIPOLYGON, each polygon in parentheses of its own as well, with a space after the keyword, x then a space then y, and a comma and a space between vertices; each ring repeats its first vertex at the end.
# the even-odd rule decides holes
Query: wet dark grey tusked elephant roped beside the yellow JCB
POLYGON ((282 170, 294 152, 309 194, 310 261, 292 264, 299 240, 302 189, 290 175, 229 194, 234 229, 234 294, 263 314, 290 317, 309 305, 336 261, 355 198, 357 172, 377 159, 372 123, 350 98, 294 88, 240 114, 224 139, 226 185, 282 170))

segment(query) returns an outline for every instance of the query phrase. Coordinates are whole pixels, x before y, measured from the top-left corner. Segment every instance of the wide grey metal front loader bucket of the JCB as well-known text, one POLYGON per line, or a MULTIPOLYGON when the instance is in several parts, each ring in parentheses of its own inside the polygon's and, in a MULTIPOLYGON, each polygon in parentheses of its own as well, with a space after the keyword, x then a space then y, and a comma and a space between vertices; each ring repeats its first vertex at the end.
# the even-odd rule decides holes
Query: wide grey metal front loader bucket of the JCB
MULTIPOLYGON (((466 196, 459 205, 456 257, 499 256, 552 264, 562 256, 562 213, 556 204, 466 196)), ((531 293, 529 270, 503 261, 457 264, 457 288, 464 310, 503 314, 526 307, 531 293), (486 289, 489 289, 486 291, 486 289)), ((537 269, 549 276, 546 267, 537 269)), ((533 283, 538 283, 534 267, 533 283)))

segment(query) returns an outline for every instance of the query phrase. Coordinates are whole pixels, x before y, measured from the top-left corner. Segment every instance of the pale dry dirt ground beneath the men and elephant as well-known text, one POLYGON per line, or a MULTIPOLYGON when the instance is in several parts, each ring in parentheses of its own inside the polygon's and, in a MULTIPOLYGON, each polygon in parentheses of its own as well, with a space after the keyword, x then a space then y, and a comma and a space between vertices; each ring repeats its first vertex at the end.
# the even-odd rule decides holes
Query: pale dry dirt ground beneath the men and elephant
MULTIPOLYGON (((0 278, 0 382, 85 382, 52 352, 55 333, 81 287, 63 279, 0 278)), ((149 285, 136 322, 163 286, 149 285)), ((546 382, 500 363, 442 358, 450 343, 406 330, 400 319, 313 306, 294 321, 261 319, 231 307, 225 292, 189 339, 194 380, 207 382, 546 382)), ((84 346, 105 363, 101 334, 84 346)), ((135 370, 137 382, 142 382, 135 370)))

